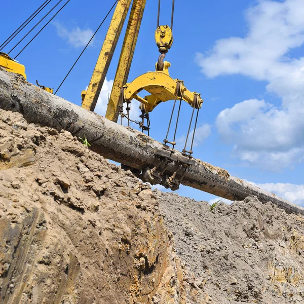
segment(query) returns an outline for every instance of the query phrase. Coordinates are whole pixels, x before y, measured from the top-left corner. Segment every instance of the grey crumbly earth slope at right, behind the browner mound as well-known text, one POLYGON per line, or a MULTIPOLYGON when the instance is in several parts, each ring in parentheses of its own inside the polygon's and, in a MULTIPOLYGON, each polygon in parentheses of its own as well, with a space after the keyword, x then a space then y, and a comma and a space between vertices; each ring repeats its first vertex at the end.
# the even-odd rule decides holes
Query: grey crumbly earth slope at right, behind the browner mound
POLYGON ((304 218, 246 198, 232 205, 154 192, 176 251, 214 303, 304 303, 304 218))

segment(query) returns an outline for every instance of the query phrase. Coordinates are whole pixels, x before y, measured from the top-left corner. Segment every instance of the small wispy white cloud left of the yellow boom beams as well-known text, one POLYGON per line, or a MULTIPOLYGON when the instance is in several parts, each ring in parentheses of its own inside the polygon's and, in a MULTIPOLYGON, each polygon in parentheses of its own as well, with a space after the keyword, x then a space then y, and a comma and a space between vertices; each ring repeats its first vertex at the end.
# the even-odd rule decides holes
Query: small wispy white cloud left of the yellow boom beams
MULTIPOLYGON (((67 40, 68 44, 74 48, 84 47, 90 41, 94 32, 90 29, 80 29, 78 26, 67 29, 60 22, 53 21, 53 25, 56 27, 57 34, 60 38, 67 40)), ((94 38, 90 43, 90 46, 93 45, 94 38)))

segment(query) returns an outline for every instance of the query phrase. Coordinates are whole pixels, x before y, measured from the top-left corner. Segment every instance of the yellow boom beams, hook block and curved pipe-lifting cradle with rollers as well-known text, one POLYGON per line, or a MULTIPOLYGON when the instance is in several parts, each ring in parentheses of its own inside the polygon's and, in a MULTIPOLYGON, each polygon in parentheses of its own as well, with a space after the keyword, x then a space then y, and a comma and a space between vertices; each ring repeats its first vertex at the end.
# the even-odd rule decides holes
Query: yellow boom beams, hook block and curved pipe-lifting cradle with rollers
MULTIPOLYGON (((199 93, 187 90, 187 88, 183 84, 183 81, 171 78, 168 70, 171 64, 167 61, 164 61, 165 55, 171 48, 173 43, 172 27, 174 0, 172 0, 171 27, 169 27, 168 25, 159 25, 161 3, 161 0, 159 0, 155 41, 161 54, 159 56, 158 62, 156 63, 156 70, 144 73, 137 77, 131 83, 127 83, 145 3, 146 0, 133 0, 130 17, 128 20, 128 26, 124 37, 123 47, 121 50, 112 91, 109 97, 105 118, 113 122, 117 122, 118 117, 120 115, 121 119, 126 117, 129 123, 131 121, 129 118, 130 103, 132 99, 136 99, 141 103, 141 122, 133 122, 139 124, 140 128, 142 129, 142 132, 147 131, 149 135, 149 112, 152 111, 161 102, 174 100, 167 135, 164 139, 163 150, 156 151, 156 154, 160 159, 165 159, 167 163, 174 161, 178 164, 178 166, 186 168, 188 166, 193 165, 193 160, 191 159, 191 155, 193 153, 192 147, 194 142, 195 129, 198 121, 198 113, 199 109, 202 106, 203 100, 199 93), (142 90, 147 91, 148 93, 150 93, 150 95, 140 97, 138 93, 142 90), (175 125, 174 138, 173 140, 169 141, 168 134, 177 99, 179 99, 179 107, 175 125), (182 150, 183 156, 177 157, 174 155, 174 146, 176 145, 175 136, 182 100, 186 101, 190 106, 192 106, 193 111, 189 123, 187 136, 185 139, 185 145, 182 150), (127 114, 123 113, 124 103, 127 104, 127 114), (197 109, 197 115, 192 135, 191 148, 189 150, 186 150, 186 144, 188 136, 190 134, 195 109, 197 109), (147 120, 147 126, 144 126, 144 119, 147 120), (171 144, 172 148, 170 148, 168 144, 171 144)), ((130 5, 131 0, 118 0, 96 66, 94 68, 89 87, 87 91, 82 91, 81 94, 83 100, 82 107, 88 110, 94 111, 130 5)), ((175 178, 175 174, 173 174, 172 176, 164 176, 162 174, 162 170, 163 169, 160 169, 158 167, 143 168, 141 178, 152 184, 161 183, 166 188, 170 187, 172 190, 178 189, 179 181, 175 178)))

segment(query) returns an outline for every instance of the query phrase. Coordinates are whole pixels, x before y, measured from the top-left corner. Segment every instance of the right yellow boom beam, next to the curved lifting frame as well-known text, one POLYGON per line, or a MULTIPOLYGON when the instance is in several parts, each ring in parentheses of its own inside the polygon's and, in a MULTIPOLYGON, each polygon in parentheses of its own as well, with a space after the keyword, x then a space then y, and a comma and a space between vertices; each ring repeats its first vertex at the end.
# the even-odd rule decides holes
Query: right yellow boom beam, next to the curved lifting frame
POLYGON ((144 11, 146 0, 134 0, 128 27, 126 30, 123 48, 119 58, 119 63, 113 82, 113 87, 109 99, 109 104, 106 110, 105 118, 113 122, 117 122, 120 107, 122 106, 120 100, 121 88, 126 84, 133 59, 135 45, 137 42, 138 32, 141 24, 141 19, 144 11))

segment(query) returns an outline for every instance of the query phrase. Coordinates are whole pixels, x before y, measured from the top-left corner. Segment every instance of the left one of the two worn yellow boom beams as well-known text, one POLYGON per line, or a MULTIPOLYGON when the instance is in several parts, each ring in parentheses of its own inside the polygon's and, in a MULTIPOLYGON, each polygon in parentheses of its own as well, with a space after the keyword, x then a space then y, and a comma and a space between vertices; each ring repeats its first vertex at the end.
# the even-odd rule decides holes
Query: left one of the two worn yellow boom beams
MULTIPOLYGON (((119 0, 106 33, 82 107, 94 111, 106 72, 115 51, 131 0, 119 0)), ((83 92, 82 92, 83 93, 83 92)))

